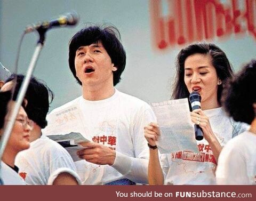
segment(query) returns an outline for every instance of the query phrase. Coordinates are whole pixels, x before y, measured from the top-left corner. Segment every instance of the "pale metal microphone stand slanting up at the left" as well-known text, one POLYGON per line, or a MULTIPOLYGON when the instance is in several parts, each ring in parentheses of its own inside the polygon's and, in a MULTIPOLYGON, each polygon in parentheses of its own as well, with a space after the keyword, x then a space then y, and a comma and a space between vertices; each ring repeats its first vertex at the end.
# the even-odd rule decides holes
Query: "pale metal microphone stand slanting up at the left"
MULTIPOLYGON (((27 70, 27 75, 25 77, 25 79, 22 82, 21 88, 19 90, 18 93, 18 97, 17 97, 17 101, 14 102, 14 108, 11 109, 11 115, 10 115, 10 121, 8 121, 7 125, 4 126, 4 133, 1 137, 0 140, 0 159, 1 159, 1 163, 2 163, 2 156, 3 156, 3 152, 5 150, 6 144, 10 138, 11 132, 12 132, 12 128, 13 125, 15 123, 15 119, 18 115, 20 106, 23 102, 23 99, 25 97, 25 94, 27 92, 28 89, 28 85, 30 82, 30 78, 33 75, 35 66, 36 66, 36 62, 38 60, 39 54, 41 53, 43 46, 44 46, 44 41, 45 41, 45 33, 47 31, 47 29, 45 28, 39 28, 38 30, 39 33, 39 40, 37 42, 37 46, 36 49, 34 51, 33 57, 31 58, 28 70, 27 70)), ((15 87, 15 86, 14 86, 15 87)), ((0 185, 3 185, 3 181, 1 179, 1 163, 0 163, 0 185)))

